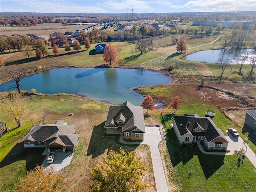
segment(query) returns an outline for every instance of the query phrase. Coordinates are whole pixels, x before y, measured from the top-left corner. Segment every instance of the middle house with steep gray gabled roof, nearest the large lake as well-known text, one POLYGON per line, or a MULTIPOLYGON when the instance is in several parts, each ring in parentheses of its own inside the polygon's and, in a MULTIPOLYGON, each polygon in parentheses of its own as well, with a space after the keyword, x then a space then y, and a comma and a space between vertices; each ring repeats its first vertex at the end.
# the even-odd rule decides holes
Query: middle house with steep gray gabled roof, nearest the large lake
POLYGON ((124 139, 144 140, 145 123, 142 106, 126 101, 119 106, 110 106, 105 126, 107 134, 119 133, 124 139))

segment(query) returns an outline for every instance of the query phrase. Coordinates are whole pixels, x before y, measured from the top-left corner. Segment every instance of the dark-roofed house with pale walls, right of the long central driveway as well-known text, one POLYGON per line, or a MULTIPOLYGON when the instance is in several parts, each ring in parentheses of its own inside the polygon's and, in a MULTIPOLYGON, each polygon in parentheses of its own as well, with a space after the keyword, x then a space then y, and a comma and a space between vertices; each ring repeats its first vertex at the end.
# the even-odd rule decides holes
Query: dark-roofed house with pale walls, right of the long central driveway
POLYGON ((208 150, 227 150, 228 140, 209 117, 173 116, 173 128, 181 144, 202 141, 208 150))

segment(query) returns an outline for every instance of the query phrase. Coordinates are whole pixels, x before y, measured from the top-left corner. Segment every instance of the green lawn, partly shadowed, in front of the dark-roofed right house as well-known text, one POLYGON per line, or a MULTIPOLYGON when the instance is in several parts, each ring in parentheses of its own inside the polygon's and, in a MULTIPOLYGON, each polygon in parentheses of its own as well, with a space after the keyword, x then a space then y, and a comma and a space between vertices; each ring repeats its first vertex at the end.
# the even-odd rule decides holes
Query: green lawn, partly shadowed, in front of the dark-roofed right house
POLYGON ((256 190, 255 168, 245 158, 243 162, 234 155, 206 155, 198 146, 180 147, 173 128, 167 130, 169 180, 182 192, 251 192, 256 190), (190 175, 191 172, 191 175, 190 175), (177 187, 178 186, 178 187, 177 187))

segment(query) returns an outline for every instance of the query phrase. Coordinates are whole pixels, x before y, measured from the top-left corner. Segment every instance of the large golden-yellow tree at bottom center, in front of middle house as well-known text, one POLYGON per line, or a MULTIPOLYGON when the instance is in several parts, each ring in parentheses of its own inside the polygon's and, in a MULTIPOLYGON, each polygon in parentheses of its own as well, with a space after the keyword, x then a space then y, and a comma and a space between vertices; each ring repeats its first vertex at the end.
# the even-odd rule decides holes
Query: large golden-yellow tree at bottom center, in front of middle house
POLYGON ((140 181, 147 169, 140 158, 136 158, 134 151, 127 154, 122 148, 120 153, 110 150, 109 154, 103 158, 103 162, 98 162, 98 166, 90 169, 92 180, 94 180, 90 191, 138 192, 147 186, 140 181))

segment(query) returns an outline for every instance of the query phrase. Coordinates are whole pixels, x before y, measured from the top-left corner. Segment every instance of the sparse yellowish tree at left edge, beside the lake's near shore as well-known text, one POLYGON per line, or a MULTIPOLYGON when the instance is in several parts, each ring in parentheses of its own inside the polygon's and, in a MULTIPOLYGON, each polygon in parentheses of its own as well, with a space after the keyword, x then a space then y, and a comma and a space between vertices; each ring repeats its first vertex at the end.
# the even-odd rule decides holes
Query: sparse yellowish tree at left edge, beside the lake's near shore
POLYGON ((16 121, 18 127, 21 126, 20 120, 27 109, 27 98, 20 94, 10 94, 8 97, 2 99, 1 110, 8 116, 11 116, 16 121))

